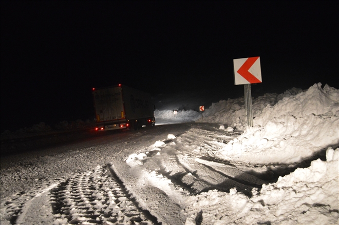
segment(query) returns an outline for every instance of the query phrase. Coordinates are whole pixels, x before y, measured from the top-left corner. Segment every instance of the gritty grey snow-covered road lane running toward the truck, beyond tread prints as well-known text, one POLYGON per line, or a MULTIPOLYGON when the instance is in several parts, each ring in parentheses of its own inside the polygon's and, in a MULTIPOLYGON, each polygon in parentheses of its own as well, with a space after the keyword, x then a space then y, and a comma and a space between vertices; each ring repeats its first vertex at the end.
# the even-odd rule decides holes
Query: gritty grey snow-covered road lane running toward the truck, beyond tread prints
MULTIPOLYGON (((27 208, 26 204, 34 206, 31 203, 34 196, 40 193, 50 195, 55 188, 65 186, 67 180, 70 182, 74 177, 95 173, 97 166, 105 167, 115 157, 152 145, 159 138, 166 138, 163 134, 166 130, 177 134, 189 128, 182 124, 144 128, 141 131, 110 132, 68 145, 1 157, 2 224, 6 221, 15 223, 16 217, 22 215, 22 209, 27 208), (51 186, 55 187, 46 192, 51 186)), ((110 173, 106 176, 110 177, 110 173)), ((20 218, 22 220, 22 216, 20 218)), ((46 218, 49 217, 46 215, 46 218)))

